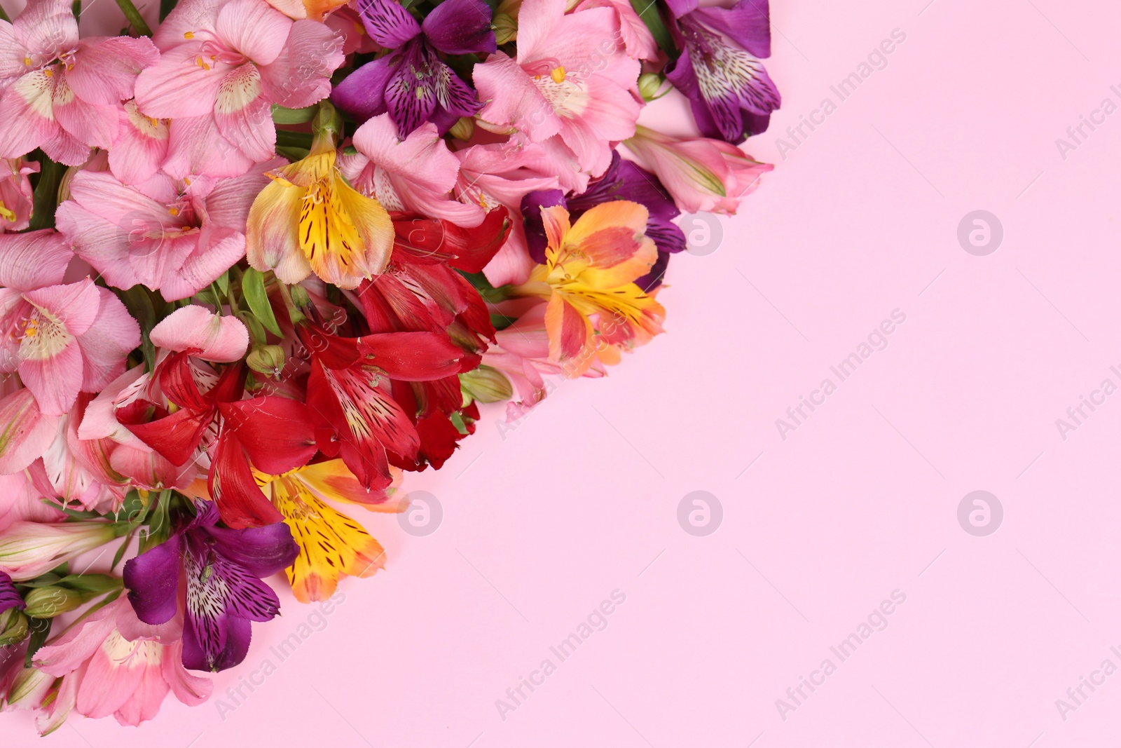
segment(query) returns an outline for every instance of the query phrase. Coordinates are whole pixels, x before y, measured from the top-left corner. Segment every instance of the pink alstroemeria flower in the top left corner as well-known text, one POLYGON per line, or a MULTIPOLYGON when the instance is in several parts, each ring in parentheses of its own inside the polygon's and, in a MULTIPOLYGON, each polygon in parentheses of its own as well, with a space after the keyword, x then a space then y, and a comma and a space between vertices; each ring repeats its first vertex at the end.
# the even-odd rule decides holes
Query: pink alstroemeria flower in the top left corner
POLYGON ((70 0, 29 0, 0 21, 0 157, 37 147, 67 166, 117 140, 121 101, 159 58, 147 37, 78 39, 70 0))

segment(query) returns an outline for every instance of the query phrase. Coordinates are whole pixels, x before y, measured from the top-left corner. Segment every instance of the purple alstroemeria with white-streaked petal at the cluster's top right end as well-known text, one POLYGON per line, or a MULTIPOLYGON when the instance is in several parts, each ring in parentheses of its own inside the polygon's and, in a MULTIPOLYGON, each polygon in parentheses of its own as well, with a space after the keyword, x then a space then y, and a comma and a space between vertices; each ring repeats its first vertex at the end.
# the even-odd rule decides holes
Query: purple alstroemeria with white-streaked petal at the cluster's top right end
POLYGON ((782 102, 760 58, 770 57, 768 0, 698 8, 667 0, 682 56, 666 75, 689 99, 701 132, 740 144, 767 129, 782 102))

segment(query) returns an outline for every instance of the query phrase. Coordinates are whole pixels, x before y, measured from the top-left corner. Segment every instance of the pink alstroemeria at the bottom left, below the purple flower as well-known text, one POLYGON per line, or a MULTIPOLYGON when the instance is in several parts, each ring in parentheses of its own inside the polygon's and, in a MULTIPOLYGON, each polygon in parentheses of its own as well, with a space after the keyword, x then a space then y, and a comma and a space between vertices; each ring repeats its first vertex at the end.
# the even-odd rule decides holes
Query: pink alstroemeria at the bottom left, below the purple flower
POLYGON ((35 654, 35 666, 54 677, 77 678, 74 711, 113 714, 121 724, 152 719, 168 692, 188 707, 206 701, 214 685, 183 667, 182 622, 141 622, 124 598, 82 619, 35 654))

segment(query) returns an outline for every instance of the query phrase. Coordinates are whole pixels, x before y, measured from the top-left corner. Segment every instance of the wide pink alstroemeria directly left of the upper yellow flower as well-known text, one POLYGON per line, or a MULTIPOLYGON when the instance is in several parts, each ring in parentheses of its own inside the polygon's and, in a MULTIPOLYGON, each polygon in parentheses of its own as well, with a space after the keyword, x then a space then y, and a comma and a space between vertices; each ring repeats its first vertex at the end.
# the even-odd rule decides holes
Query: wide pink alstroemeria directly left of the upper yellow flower
POLYGON ((58 230, 110 285, 141 284, 174 302, 244 256, 249 207, 268 183, 253 170, 228 179, 160 175, 127 186, 106 172, 80 172, 71 200, 58 206, 58 230))

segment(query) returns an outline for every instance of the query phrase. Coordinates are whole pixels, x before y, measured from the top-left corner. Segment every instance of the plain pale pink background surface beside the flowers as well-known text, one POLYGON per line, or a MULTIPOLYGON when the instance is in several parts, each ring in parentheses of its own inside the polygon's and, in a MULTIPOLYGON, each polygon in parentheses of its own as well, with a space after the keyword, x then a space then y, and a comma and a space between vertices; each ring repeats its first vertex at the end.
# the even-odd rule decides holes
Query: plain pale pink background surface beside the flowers
MULTIPOLYGON (((1121 113, 1065 160, 1055 141, 1121 104, 1121 10, 926 3, 775 0, 784 105, 748 150, 777 168, 716 251, 675 258, 668 334, 504 438, 489 409, 444 470, 409 475, 443 525, 369 517, 388 570, 345 582, 224 720, 169 700, 138 730, 75 720, 50 744, 1113 745, 1121 674, 1065 721, 1055 700, 1121 665, 1121 394, 1066 441, 1055 421, 1121 384, 1121 113), (887 68, 784 159, 776 138, 896 28, 887 68), (988 257, 956 239, 978 209, 1004 227, 988 257), (896 308, 887 350, 781 440, 775 419, 896 308), (1004 507, 989 537, 957 524, 976 489, 1004 507), (694 490, 724 507, 707 537, 676 519, 694 490), (495 700, 615 589, 610 626, 503 721, 495 700), (888 628, 784 721, 776 699, 896 589, 888 628)), ((647 120, 680 130, 675 112, 647 120)), ((282 599, 215 696, 306 622, 282 599)), ((22 715, 3 730, 31 744, 22 715)))

